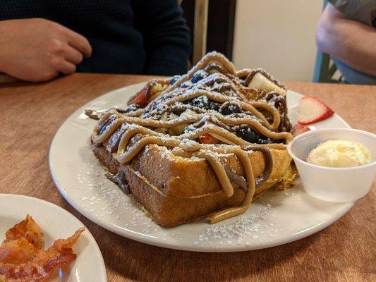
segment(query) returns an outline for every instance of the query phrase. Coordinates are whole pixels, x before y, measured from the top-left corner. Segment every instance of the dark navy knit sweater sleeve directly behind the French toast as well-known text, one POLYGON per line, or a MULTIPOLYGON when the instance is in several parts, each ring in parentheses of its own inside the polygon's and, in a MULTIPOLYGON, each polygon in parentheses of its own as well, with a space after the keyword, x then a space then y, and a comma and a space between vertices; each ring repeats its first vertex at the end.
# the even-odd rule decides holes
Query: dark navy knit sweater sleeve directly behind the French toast
POLYGON ((135 28, 143 35, 145 73, 176 75, 187 71, 189 30, 177 0, 132 1, 135 28))

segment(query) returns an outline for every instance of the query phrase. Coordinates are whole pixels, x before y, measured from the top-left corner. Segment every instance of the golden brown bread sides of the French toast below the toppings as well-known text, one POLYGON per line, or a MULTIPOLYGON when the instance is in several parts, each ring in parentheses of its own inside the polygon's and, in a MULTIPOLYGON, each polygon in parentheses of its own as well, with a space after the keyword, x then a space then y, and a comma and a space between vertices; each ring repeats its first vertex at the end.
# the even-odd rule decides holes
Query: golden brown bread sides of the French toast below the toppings
MULTIPOLYGON (((245 192, 237 187, 234 195, 226 197, 207 161, 173 156, 166 147, 148 145, 128 165, 119 164, 102 145, 92 145, 92 149, 111 173, 125 173, 129 195, 164 227, 190 223, 225 207, 239 205, 245 197, 245 192)), ((287 152, 271 150, 271 153, 274 161, 271 176, 256 190, 256 195, 279 184, 290 173, 291 159, 287 152)), ((260 176, 265 168, 262 153, 249 152, 249 156, 255 177, 260 176)), ((224 164, 243 175, 243 168, 233 154, 221 158, 224 164)), ((283 185, 289 185, 289 181, 283 185)))

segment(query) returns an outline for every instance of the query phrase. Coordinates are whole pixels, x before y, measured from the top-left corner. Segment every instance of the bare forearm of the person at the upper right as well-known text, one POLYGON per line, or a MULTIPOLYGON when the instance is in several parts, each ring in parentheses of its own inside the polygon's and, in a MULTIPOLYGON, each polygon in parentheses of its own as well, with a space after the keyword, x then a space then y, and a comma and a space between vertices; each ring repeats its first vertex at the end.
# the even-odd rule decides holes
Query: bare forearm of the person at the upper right
POLYGON ((376 76, 376 30, 350 20, 327 4, 316 30, 317 49, 363 73, 376 76))

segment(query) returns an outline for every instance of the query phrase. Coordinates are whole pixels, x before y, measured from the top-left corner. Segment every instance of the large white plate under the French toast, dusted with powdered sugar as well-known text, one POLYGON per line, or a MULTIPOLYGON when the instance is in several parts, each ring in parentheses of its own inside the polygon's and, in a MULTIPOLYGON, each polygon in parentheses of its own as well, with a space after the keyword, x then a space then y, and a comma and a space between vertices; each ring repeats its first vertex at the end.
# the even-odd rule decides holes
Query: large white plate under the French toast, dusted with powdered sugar
MULTIPOLYGON (((142 84, 104 94, 75 111, 57 131, 51 143, 52 177, 66 200, 99 226, 143 243, 196 252, 236 252, 289 243, 334 223, 353 206, 310 197, 296 180, 295 188, 269 191, 251 204, 243 216, 210 225, 206 221, 161 228, 138 209, 131 199, 108 180, 92 154, 90 134, 96 121, 85 109, 124 107, 142 84)), ((292 122, 302 95, 289 91, 292 122)), ((348 128, 339 117, 315 123, 314 128, 348 128)))

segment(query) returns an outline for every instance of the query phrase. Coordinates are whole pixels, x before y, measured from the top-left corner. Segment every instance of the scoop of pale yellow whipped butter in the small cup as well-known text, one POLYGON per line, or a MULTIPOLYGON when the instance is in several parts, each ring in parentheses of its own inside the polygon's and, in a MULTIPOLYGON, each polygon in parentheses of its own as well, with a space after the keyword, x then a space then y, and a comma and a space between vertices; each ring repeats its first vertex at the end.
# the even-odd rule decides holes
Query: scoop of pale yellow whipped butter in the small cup
POLYGON ((341 168, 362 166, 372 160, 370 151, 359 142, 328 140, 313 149, 306 161, 317 166, 341 168))

